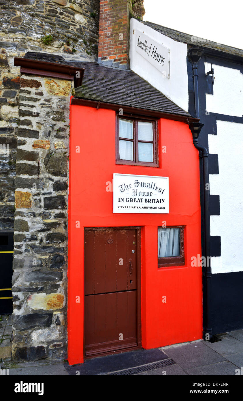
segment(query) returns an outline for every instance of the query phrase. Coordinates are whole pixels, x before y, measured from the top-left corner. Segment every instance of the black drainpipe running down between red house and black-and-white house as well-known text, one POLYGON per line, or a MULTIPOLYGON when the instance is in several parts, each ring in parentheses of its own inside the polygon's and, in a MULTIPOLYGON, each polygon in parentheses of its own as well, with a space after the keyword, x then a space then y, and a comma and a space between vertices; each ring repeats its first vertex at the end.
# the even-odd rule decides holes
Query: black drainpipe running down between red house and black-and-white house
MULTIPOLYGON (((194 102, 196 118, 199 118, 199 100, 198 100, 198 60, 202 57, 201 49, 194 48, 188 52, 188 57, 192 62, 193 83, 194 83, 194 102)), ((199 150, 200 158, 203 159, 203 199, 204 199, 204 228, 205 228, 205 257, 206 257, 206 327, 205 337, 207 340, 212 338, 212 320, 211 320, 211 254, 210 254, 210 214, 209 214, 209 153, 205 146, 198 144, 198 136, 204 124, 190 123, 189 128, 192 132, 193 144, 199 150), (201 152, 201 154, 200 154, 201 152)))

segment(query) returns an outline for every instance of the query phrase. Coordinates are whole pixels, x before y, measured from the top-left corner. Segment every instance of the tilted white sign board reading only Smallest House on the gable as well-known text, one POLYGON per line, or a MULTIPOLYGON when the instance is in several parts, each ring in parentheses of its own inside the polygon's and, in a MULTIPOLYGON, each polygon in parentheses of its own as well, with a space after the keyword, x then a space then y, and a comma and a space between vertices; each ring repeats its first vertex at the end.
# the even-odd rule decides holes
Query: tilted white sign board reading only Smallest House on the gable
POLYGON ((150 64, 154 65, 164 77, 170 77, 170 50, 149 36, 136 30, 135 49, 150 64))

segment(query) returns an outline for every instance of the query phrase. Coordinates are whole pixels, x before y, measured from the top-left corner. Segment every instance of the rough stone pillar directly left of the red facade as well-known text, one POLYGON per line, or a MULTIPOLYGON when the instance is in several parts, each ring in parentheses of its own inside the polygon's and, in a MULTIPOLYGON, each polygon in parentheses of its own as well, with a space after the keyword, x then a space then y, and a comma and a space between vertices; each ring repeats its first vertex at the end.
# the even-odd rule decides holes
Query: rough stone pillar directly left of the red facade
POLYGON ((14 214, 14 360, 65 358, 73 83, 21 75, 14 214))

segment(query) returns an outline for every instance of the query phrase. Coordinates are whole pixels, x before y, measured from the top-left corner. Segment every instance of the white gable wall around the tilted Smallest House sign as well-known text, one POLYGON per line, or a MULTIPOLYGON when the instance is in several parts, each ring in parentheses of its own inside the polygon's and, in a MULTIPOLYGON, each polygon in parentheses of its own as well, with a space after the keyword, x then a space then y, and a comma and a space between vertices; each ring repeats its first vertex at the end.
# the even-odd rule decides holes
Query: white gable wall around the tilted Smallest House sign
POLYGON ((130 21, 130 68, 164 93, 170 100, 188 111, 188 78, 186 67, 187 45, 176 42, 142 22, 130 21), (136 30, 170 49, 170 78, 162 73, 136 51, 136 30))

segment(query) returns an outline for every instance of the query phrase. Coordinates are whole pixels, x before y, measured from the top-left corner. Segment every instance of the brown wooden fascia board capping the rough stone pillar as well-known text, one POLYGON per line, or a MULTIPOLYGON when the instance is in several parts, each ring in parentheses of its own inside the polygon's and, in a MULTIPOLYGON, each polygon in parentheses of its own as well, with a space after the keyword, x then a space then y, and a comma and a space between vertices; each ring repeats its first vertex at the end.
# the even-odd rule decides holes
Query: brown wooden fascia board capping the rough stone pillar
POLYGON ((21 73, 69 79, 74 81, 75 88, 82 85, 83 74, 85 70, 84 68, 73 67, 72 65, 24 59, 21 57, 14 57, 14 65, 16 67, 20 67, 21 73), (77 77, 77 72, 79 72, 79 77, 77 77))

